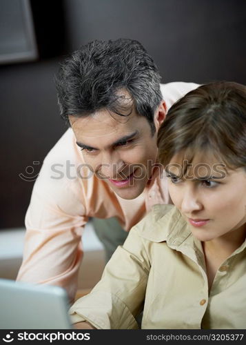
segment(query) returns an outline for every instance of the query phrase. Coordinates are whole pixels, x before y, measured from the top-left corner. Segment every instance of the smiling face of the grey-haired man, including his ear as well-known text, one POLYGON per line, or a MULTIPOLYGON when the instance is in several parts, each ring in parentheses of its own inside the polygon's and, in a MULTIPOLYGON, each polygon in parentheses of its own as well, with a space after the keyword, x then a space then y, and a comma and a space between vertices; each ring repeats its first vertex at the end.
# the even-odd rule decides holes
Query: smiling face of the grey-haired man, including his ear
MULTIPOLYGON (((165 105, 156 110, 156 129, 165 117, 165 105)), ((76 143, 92 171, 123 199, 134 199, 144 190, 156 163, 155 132, 143 116, 122 117, 99 110, 88 117, 70 116, 76 143)))

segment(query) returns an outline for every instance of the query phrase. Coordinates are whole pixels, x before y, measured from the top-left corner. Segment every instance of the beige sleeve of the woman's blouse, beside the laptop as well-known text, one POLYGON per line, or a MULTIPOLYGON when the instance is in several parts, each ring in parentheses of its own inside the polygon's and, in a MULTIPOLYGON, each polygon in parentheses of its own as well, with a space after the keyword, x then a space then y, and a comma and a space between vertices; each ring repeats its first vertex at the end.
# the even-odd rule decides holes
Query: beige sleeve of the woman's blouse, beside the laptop
POLYGON ((143 311, 150 259, 137 227, 105 266, 101 281, 91 293, 70 308, 72 323, 88 321, 101 329, 136 329, 143 311))

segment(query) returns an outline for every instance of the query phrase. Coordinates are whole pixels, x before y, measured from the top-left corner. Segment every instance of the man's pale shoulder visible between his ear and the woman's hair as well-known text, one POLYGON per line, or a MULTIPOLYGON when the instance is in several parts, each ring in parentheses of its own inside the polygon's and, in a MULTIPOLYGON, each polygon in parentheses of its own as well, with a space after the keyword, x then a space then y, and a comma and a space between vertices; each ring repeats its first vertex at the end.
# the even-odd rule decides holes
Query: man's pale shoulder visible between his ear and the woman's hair
POLYGON ((184 81, 173 81, 171 83, 161 84, 161 93, 167 105, 167 110, 178 99, 186 95, 188 92, 195 90, 200 86, 197 83, 185 83, 184 81))

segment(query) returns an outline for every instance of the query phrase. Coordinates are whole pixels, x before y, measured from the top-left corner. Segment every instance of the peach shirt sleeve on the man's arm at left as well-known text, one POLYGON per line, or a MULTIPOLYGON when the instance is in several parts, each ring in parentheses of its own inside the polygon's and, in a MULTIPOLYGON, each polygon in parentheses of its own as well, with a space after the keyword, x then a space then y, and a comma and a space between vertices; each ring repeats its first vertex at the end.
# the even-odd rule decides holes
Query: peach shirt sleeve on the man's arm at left
MULTIPOLYGON (((17 280, 61 286, 72 302, 83 255, 81 234, 87 217, 81 182, 52 170, 52 164, 61 163, 56 152, 57 149, 45 158, 32 190, 25 215, 23 262, 17 280)), ((65 170, 64 164, 59 168, 65 170)))

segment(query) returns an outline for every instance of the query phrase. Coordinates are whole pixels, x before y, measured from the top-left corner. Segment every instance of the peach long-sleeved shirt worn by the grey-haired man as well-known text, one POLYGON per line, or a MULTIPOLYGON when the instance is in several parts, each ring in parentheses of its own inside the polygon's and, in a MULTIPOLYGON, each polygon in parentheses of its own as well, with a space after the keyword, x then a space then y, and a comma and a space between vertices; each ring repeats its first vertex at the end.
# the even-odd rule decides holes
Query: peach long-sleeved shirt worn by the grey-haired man
MULTIPOLYGON (((198 84, 161 85, 167 109, 198 84)), ((158 175, 158 174, 157 174, 158 175)), ((129 231, 154 204, 169 204, 167 181, 152 179, 133 200, 118 197, 85 166, 72 129, 43 161, 25 215, 25 246, 17 280, 62 286, 72 300, 83 256, 81 235, 88 217, 117 217, 129 231)))

